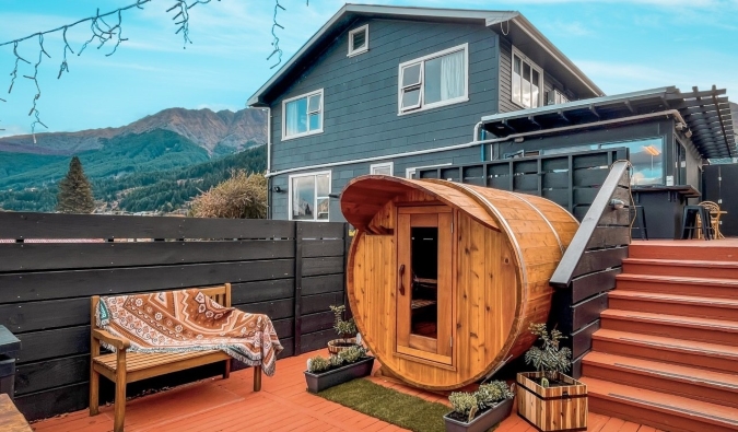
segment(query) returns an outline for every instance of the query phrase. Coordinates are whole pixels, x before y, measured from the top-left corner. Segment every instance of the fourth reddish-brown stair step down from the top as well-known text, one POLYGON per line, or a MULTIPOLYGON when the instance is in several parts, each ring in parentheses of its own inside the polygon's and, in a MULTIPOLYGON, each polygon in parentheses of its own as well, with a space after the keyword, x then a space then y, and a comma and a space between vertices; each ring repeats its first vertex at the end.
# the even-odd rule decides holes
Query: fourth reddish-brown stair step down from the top
POLYGON ((621 311, 738 322, 738 300, 614 290, 608 293, 608 302, 621 311))

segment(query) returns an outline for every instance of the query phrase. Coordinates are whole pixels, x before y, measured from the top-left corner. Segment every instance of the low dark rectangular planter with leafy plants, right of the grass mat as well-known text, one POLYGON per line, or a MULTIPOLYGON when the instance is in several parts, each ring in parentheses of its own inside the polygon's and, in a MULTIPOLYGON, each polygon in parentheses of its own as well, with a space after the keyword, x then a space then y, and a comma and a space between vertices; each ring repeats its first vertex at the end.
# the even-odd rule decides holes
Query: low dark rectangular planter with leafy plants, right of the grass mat
POLYGON ((477 392, 455 392, 448 397, 453 411, 443 417, 446 432, 484 432, 509 416, 513 389, 503 381, 482 384, 477 392))

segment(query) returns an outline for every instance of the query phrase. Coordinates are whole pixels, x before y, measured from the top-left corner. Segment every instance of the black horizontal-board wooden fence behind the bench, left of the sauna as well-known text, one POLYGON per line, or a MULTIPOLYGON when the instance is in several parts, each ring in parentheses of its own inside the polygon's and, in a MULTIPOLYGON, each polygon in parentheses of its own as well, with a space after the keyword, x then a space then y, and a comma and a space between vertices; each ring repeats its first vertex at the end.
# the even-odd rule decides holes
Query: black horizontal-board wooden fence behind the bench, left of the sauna
POLYGON ((335 337, 328 306, 344 302, 348 238, 343 223, 0 212, 0 324, 22 343, 15 402, 30 420, 87 407, 94 294, 231 282, 235 307, 271 317, 281 357, 323 348, 335 337))

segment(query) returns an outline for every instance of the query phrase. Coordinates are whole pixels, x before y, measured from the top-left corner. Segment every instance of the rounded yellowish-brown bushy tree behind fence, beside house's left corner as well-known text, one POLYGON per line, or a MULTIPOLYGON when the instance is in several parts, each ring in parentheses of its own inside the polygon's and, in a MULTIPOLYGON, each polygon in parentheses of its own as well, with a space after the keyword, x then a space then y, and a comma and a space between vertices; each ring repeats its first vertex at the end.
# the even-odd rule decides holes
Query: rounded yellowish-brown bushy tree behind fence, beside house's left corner
POLYGON ((263 219, 267 217, 267 179, 262 174, 246 175, 243 170, 198 195, 192 200, 196 218, 263 219))

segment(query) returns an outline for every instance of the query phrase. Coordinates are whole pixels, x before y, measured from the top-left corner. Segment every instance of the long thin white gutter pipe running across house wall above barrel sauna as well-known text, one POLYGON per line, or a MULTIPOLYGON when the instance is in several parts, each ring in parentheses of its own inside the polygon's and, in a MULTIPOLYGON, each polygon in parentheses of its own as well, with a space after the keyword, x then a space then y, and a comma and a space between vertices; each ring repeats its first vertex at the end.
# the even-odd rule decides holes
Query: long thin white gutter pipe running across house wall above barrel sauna
POLYGON ((511 141, 511 140, 514 140, 516 138, 526 138, 526 137, 535 137, 535 136, 538 136, 538 135, 564 132, 564 131, 569 131, 569 130, 584 129, 584 128, 590 128, 590 127, 596 127, 596 126, 607 126, 607 125, 617 124, 617 122, 624 122, 624 121, 643 120, 643 119, 646 119, 646 118, 661 117, 661 116, 669 116, 669 115, 676 117, 679 121, 683 122, 684 125, 687 124, 684 121, 684 119, 681 117, 681 114, 679 114, 679 112, 677 109, 667 109, 667 110, 657 112, 657 113, 641 114, 641 115, 628 117, 628 118, 624 118, 624 119, 623 118, 616 118, 616 119, 611 119, 611 120, 599 120, 599 121, 588 122, 588 124, 583 124, 583 125, 563 126, 563 127, 560 127, 560 128, 553 128, 553 129, 547 129, 547 130, 534 130, 534 131, 530 131, 530 132, 514 133, 514 135, 508 135, 507 137, 504 137, 504 138, 493 138, 493 139, 489 139, 489 140, 479 140, 479 137, 477 136, 477 132, 479 131, 479 128, 482 125, 482 122, 480 121, 475 126, 473 141, 466 142, 464 144, 454 144, 454 145, 440 147, 440 148, 436 148, 436 149, 415 150, 415 151, 411 151, 411 152, 396 153, 396 154, 389 154, 389 155, 383 155, 383 156, 362 157, 362 159, 353 159, 353 160, 350 160, 350 161, 329 162, 329 163, 324 163, 324 164, 301 166, 298 168, 289 168, 289 170, 282 170, 282 171, 277 171, 277 172, 269 172, 269 173, 267 173, 266 177, 269 178, 269 177, 273 177, 276 175, 296 173, 296 172, 301 172, 301 171, 313 171, 313 170, 318 170, 318 168, 329 168, 329 167, 333 167, 333 166, 352 165, 352 164, 364 163, 364 162, 387 161, 387 160, 393 160, 393 159, 398 159, 398 157, 408 157, 408 156, 417 156, 417 155, 421 155, 421 154, 440 153, 440 152, 446 152, 446 151, 449 151, 449 150, 468 149, 468 148, 475 147, 475 145, 482 145, 482 144, 491 144, 491 143, 496 143, 496 142, 511 141))

